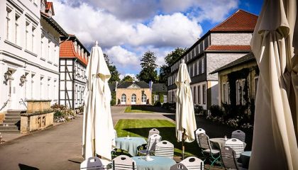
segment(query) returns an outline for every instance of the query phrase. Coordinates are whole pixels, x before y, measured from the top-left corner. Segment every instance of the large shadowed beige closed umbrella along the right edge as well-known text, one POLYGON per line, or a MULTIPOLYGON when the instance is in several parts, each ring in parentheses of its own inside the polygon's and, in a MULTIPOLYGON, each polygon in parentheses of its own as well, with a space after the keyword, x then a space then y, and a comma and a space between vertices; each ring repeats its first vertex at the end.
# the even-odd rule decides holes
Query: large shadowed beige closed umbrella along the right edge
POLYGON ((298 169, 296 3, 265 0, 250 42, 260 75, 249 169, 298 169))

